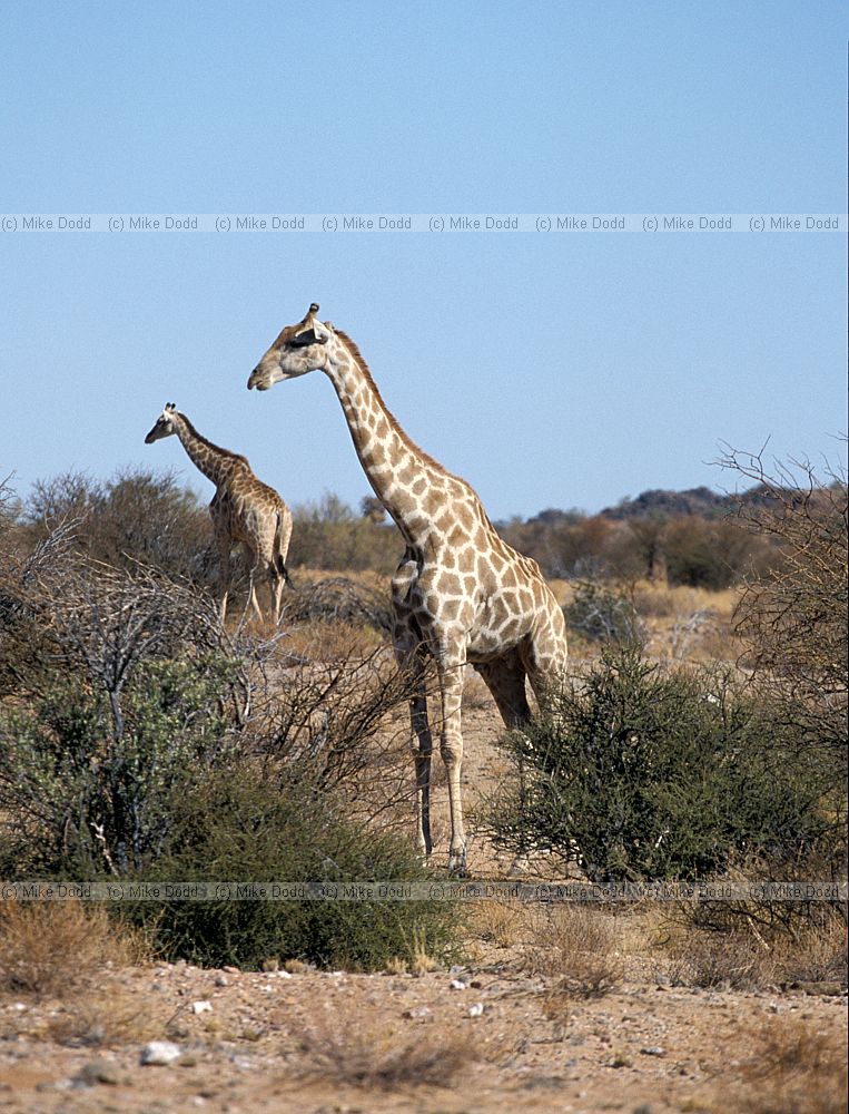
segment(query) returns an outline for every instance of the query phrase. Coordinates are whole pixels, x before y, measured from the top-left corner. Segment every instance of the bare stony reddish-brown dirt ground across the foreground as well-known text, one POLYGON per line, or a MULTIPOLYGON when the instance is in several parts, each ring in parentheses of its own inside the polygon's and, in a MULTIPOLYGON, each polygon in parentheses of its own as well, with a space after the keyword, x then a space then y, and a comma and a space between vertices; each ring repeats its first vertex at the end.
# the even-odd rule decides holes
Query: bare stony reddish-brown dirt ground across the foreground
MULTIPOLYGON (((131 1000, 139 1032, 106 1046, 85 1025, 75 1029, 82 1001, 8 1000, 0 1110, 728 1111, 763 1088, 753 1055, 761 1035, 774 1045, 792 1023, 818 1047, 846 1038, 842 997, 639 979, 552 1017, 551 980, 523 975, 502 951, 418 977, 179 964, 116 973, 95 993, 101 1006, 131 1000), (174 1064, 140 1066, 148 1019, 179 1046, 174 1064)), ((828 1085, 821 1072, 818 1079, 828 1085)))

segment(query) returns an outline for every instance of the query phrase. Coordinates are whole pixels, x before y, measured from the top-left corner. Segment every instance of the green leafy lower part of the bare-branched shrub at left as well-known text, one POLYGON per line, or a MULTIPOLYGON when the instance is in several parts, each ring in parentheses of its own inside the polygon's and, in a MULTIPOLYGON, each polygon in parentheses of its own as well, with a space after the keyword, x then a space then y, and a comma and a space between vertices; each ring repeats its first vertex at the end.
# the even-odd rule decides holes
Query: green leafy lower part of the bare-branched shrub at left
POLYGON ((139 663, 120 731, 113 700, 79 674, 1 709, 4 877, 125 874, 160 853, 175 785, 231 745, 220 700, 231 668, 215 654, 139 663))

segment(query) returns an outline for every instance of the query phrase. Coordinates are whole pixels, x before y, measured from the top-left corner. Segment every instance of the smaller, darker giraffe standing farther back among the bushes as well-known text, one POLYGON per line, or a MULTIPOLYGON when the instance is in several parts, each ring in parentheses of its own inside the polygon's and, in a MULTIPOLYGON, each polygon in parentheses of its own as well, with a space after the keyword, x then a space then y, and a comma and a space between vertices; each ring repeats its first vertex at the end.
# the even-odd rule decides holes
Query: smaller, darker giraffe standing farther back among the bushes
POLYGON ((289 579, 286 554, 292 537, 292 511, 274 488, 256 478, 246 457, 201 437, 186 414, 169 402, 145 438, 145 444, 171 436, 180 439, 191 462, 215 483, 209 514, 220 563, 221 623, 227 610, 230 549, 235 541, 240 541, 251 557, 249 606, 261 618, 256 582, 265 580, 272 596, 274 622, 278 623, 283 586, 289 579))

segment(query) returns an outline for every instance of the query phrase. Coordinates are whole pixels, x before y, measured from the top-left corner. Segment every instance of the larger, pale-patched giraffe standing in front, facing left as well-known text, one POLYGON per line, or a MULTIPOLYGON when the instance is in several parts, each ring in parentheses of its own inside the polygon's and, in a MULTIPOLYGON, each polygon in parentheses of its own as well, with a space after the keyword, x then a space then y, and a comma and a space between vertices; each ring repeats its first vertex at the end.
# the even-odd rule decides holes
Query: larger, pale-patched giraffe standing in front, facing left
POLYGON ((431 732, 424 692, 425 654, 436 663, 442 701, 440 749, 448 775, 448 866, 466 862, 460 768, 463 758, 463 666, 475 666, 504 722, 530 717, 525 677, 537 698, 565 676, 563 613, 539 565, 503 541, 465 480, 423 452, 389 413, 356 344, 329 322, 306 316, 288 325, 250 374, 248 389, 324 371, 345 412, 359 461, 375 495, 406 543, 392 582, 393 642, 415 670, 411 701, 416 765, 417 836, 431 853, 431 732))

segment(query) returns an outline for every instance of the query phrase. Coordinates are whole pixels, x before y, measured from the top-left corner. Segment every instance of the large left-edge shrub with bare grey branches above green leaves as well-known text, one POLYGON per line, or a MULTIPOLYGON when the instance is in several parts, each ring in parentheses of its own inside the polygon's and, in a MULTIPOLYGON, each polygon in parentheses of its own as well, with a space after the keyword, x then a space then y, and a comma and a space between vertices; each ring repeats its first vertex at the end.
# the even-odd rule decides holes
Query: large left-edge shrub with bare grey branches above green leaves
POLYGON ((137 869, 164 846, 175 782, 231 742, 238 663, 215 609, 150 569, 67 555, 14 590, 0 642, 0 680, 17 688, 0 706, 0 866, 137 869))

